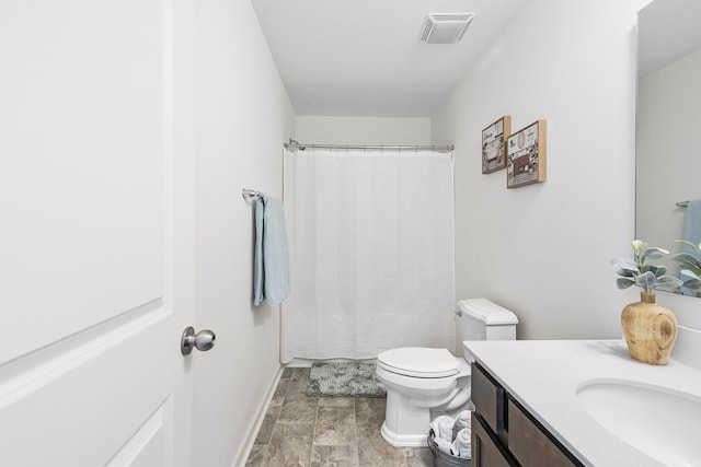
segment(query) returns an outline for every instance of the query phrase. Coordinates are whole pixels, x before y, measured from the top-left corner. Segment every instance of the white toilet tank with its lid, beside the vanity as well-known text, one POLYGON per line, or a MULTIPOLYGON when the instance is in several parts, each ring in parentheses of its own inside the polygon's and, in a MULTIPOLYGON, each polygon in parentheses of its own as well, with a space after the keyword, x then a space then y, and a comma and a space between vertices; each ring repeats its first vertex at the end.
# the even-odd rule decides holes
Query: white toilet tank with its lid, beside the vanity
POLYGON ((457 303, 456 314, 460 342, 516 339, 516 315, 487 299, 461 300, 457 303))

